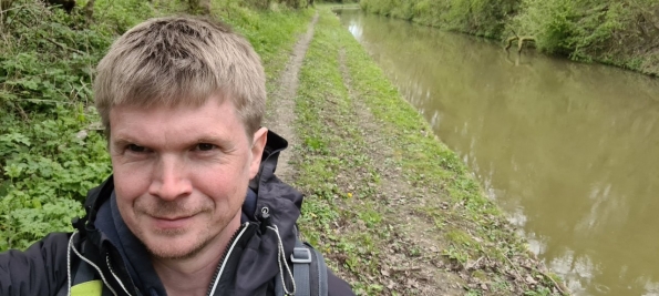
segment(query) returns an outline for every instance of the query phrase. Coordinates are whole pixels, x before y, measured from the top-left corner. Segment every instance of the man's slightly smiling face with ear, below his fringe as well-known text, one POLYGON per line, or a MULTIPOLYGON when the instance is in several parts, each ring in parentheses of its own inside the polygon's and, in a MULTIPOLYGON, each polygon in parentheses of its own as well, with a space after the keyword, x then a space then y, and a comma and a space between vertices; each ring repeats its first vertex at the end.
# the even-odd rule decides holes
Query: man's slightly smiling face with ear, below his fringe
POLYGON ((248 137, 230 100, 214 96, 198 108, 114 106, 110 126, 120 213, 154 256, 189 257, 234 234, 265 129, 248 137))

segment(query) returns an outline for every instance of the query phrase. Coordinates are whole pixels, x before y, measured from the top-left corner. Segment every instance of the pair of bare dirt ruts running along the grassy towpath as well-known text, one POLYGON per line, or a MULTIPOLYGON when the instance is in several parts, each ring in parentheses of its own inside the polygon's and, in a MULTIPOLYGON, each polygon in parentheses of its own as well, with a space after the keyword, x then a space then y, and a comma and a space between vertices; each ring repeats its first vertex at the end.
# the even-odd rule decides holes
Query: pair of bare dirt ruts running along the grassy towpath
MULTIPOLYGON (((296 135, 294 124, 296 122, 295 113, 295 98, 297 95, 297 89, 299 85, 298 74, 305 55, 309 48, 309 44, 313 38, 315 27, 318 22, 318 13, 313 17, 307 32, 302 34, 296 43, 290 59, 286 65, 286 70, 281 73, 278 79, 278 89, 272 93, 270 100, 272 100, 272 111, 270 116, 266 119, 266 126, 271 131, 280 134, 289 142, 289 150, 281 153, 279 157, 279 164, 277 167, 277 175, 285 182, 294 182, 296 177, 296 170, 291 165, 291 157, 295 157, 296 147, 299 146, 299 139, 296 135)), ((343 57, 344 52, 340 52, 343 57)), ((343 82, 346 88, 350 89, 350 76, 344 68, 343 59, 341 59, 341 73, 343 75, 343 82)), ((382 142, 383 139, 378 137, 378 124, 375 123, 372 114, 369 113, 368 109, 363 105, 363 102, 359 98, 353 96, 354 110, 358 111, 359 125, 363 131, 363 134, 370 135, 367 137, 369 144, 382 142)), ((374 146, 374 145, 373 145, 374 146)), ((383 167, 383 160, 391 156, 391 150, 369 150, 363 151, 375 160, 375 163, 380 163, 379 171, 384 172, 387 167, 383 167)), ((359 176, 344 175, 343 180, 348 186, 354 186, 352 184, 359 181, 359 176), (351 183, 352 185, 349 185, 351 183)), ((428 238, 428 234, 424 234, 423 228, 426 222, 419 221, 421 217, 411 214, 413 212, 410 208, 410 204, 414 201, 405 201, 404 196, 413 195, 413 188, 401 181, 400 171, 393 173, 385 173, 382 187, 378 191, 382 193, 381 198, 384 198, 385 205, 399 206, 398 214, 403 214, 406 220, 401 221, 400 218, 391 225, 397 226, 397 233, 400 235, 388 242, 389 246, 382 246, 390 248, 393 245, 403 245, 404 252, 397 252, 403 249, 390 248, 390 255, 384 256, 383 268, 381 274, 377 275, 379 280, 388 285, 392 290, 400 290, 402 293, 416 292, 421 295, 461 295, 462 288, 457 284, 454 276, 446 276, 439 273, 439 268, 442 267, 439 256, 439 246, 435 245, 433 239, 428 238), (416 226, 411 226, 416 225, 416 226), (421 247, 423 249, 422 256, 410 257, 408 248, 421 247), (439 265, 437 265, 439 264, 439 265)), ((390 217, 400 217, 401 215, 390 215, 390 217)), ((359 232, 359 226, 348 226, 344 228, 347 232, 359 232)), ((330 255, 330 259, 337 259, 330 255)), ((340 258, 338 258, 340 261, 340 258)), ((341 273, 341 272, 339 272, 341 273)), ((343 273, 341 273, 343 274, 343 273)), ((349 274, 343 274, 344 277, 351 277, 349 274)))

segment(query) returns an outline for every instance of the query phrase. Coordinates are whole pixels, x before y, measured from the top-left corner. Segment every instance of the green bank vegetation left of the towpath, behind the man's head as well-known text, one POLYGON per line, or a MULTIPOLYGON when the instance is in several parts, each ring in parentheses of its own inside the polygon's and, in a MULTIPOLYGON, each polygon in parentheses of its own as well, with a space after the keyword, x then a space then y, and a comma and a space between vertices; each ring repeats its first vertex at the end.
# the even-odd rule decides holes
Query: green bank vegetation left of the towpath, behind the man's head
MULTIPOLYGON (((84 6, 79 2, 78 10, 84 6)), ((254 44, 272 84, 309 11, 271 3, 253 10, 215 1, 213 14, 254 44)), ((0 22, 0 251, 24 248, 71 231, 86 191, 111 174, 92 79, 113 39, 147 18, 181 13, 184 3, 96 0, 95 21, 78 10, 13 1, 0 22)))

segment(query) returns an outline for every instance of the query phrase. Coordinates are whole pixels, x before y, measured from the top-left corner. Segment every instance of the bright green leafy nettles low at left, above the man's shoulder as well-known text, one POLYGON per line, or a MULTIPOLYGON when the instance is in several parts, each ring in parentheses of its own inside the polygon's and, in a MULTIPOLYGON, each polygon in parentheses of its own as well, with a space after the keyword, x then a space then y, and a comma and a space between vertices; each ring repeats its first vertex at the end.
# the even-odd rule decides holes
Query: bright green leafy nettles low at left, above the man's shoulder
POLYGON ((110 174, 105 140, 76 111, 3 119, 0 127, 0 249, 24 248, 50 232, 70 231, 86 191, 110 174), (9 124, 6 124, 8 123, 9 124))

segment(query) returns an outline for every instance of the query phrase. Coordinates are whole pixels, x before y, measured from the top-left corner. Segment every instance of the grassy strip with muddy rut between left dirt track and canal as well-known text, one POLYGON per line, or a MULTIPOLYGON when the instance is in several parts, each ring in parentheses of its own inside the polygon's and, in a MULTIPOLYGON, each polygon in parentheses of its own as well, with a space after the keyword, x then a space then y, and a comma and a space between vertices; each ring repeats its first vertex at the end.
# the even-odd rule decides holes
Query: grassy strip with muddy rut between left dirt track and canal
POLYGON ((327 10, 300 73, 306 237, 362 295, 565 290, 327 10))

